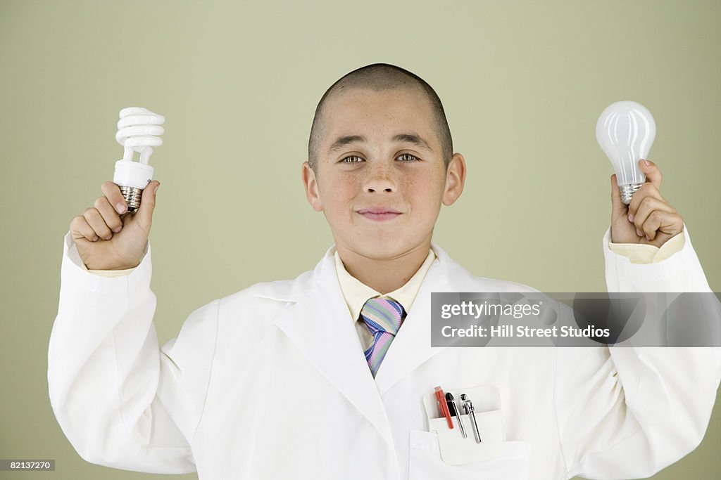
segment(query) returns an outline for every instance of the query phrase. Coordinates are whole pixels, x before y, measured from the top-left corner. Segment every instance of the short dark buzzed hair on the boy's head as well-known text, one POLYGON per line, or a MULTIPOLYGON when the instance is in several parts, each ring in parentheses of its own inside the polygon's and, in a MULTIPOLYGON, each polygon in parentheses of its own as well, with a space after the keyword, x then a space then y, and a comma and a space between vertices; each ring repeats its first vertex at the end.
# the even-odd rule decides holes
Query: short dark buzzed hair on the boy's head
POLYGON ((448 128, 448 120, 446 120, 446 112, 443 111, 441 99, 438 98, 433 88, 431 88, 423 78, 420 78, 414 73, 396 65, 390 65, 389 63, 373 63, 372 65, 366 65, 365 67, 346 73, 345 76, 339 78, 325 91, 318 102, 318 107, 313 117, 313 125, 311 126, 311 135, 308 140, 308 162, 313 171, 316 174, 318 173, 319 148, 325 127, 325 104, 330 97, 344 89, 361 88, 385 91, 392 89, 418 89, 418 87, 420 87, 420 91, 428 98, 433 109, 435 132, 441 143, 443 163, 445 163, 446 168, 448 168, 448 162, 451 161, 451 157, 453 156, 453 140, 451 139, 451 129, 448 128))

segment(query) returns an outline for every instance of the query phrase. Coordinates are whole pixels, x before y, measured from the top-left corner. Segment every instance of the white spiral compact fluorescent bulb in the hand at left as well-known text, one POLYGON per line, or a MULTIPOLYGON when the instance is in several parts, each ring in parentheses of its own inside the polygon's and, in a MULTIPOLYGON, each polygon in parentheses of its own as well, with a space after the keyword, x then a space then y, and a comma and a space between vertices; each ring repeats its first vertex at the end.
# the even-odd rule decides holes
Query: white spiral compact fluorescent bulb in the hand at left
POLYGON ((136 212, 140 207, 143 189, 153 179, 153 167, 148 165, 153 147, 163 144, 162 138, 165 117, 142 107, 128 107, 120 110, 118 133, 115 140, 125 148, 123 158, 115 162, 115 175, 112 181, 120 187, 128 212, 136 212), (135 152, 140 159, 133 161, 135 152))

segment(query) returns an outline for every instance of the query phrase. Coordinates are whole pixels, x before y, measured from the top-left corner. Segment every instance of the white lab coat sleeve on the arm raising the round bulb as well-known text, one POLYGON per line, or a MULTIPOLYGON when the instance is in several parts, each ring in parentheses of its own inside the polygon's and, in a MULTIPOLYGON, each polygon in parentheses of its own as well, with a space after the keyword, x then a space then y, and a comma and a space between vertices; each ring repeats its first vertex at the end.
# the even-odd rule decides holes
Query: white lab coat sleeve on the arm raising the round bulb
MULTIPOLYGON (((603 237, 609 292, 711 291, 686 243, 632 264, 603 237)), ((645 478, 701 442, 721 379, 720 348, 558 348, 554 385, 567 478, 645 478)))

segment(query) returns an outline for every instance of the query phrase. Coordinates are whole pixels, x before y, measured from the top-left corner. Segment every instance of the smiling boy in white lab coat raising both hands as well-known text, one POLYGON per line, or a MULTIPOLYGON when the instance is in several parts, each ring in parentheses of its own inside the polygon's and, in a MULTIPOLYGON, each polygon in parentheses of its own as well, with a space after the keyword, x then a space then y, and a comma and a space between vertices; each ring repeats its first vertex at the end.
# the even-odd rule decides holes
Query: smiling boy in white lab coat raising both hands
MULTIPOLYGON (((658 168, 640 166, 650 181, 629 207, 611 178, 609 291, 709 291, 658 168), (667 258, 632 263, 610 240, 667 258)), ((302 167, 335 245, 314 271, 195 310, 160 350, 147 241, 158 183, 120 217, 106 182, 64 245, 48 353, 63 432, 87 461, 201 479, 629 478, 695 448, 717 350, 430 347, 432 291, 534 291, 473 276, 431 243, 465 174, 427 83, 386 64, 342 77, 302 167), (503 425, 483 432, 501 439, 495 458, 446 463, 422 402, 439 384, 500 392, 487 413, 503 425)))

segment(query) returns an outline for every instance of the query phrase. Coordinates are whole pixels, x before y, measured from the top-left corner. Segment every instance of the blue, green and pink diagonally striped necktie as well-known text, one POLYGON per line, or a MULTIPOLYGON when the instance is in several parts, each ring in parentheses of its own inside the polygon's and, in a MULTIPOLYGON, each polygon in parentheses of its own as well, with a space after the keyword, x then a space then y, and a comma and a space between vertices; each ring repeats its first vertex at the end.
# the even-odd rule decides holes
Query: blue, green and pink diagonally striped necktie
POLYGON ((361 320, 373 335, 373 343, 364 353, 374 379, 404 316, 402 305, 392 299, 371 298, 363 304, 361 320))

